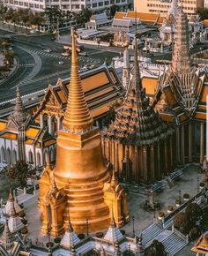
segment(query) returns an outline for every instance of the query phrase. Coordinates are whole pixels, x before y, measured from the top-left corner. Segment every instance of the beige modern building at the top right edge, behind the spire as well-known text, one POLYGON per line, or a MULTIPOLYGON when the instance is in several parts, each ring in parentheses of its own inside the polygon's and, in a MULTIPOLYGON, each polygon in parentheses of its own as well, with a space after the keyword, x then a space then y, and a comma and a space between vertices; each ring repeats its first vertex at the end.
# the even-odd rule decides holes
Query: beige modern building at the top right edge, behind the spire
POLYGON ((155 13, 166 16, 171 2, 179 2, 185 13, 196 14, 197 9, 204 8, 204 0, 134 0, 134 10, 144 13, 155 13))

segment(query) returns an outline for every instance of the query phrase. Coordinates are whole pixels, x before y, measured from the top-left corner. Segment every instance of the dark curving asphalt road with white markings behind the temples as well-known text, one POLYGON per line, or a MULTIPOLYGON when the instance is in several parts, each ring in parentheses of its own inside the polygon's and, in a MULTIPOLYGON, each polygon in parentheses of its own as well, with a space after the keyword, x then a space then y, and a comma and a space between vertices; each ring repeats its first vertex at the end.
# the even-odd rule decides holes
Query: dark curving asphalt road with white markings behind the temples
MULTIPOLYGON (((9 34, 14 38, 13 49, 17 65, 11 76, 0 81, 0 102, 15 97, 15 86, 19 84, 22 94, 29 94, 56 84, 58 78, 70 76, 71 57, 62 56, 63 44, 51 41, 49 35, 22 35, 6 33, 0 30, 0 36, 9 34), (50 49, 51 52, 44 50, 50 49), (59 64, 62 62, 62 64, 59 64)), ((87 56, 78 56, 79 67, 85 64, 91 67, 99 66, 105 61, 111 63, 111 53, 100 49, 85 49, 87 56)))

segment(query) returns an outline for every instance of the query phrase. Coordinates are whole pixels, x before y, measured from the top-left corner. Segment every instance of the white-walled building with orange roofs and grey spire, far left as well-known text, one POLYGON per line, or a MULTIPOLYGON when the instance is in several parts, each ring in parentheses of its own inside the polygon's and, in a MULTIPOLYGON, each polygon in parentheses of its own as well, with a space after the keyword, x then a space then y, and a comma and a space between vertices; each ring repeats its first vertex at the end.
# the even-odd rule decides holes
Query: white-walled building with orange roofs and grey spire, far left
POLYGON ((0 162, 11 165, 24 160, 31 167, 41 167, 48 154, 55 160, 56 139, 35 124, 24 109, 19 87, 15 107, 7 120, 0 120, 0 162))

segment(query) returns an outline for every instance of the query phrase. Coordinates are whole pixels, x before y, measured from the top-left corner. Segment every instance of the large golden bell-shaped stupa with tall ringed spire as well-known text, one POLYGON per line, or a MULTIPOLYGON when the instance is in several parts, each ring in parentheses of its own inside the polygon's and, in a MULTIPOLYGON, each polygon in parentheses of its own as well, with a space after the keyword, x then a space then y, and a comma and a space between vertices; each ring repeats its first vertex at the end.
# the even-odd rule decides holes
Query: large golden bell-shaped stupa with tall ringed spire
POLYGON ((110 182, 108 168, 102 156, 99 129, 93 126, 85 103, 73 29, 71 35, 71 82, 63 130, 57 136, 56 167, 53 170, 47 167, 40 180, 42 232, 47 233, 50 228, 53 236, 66 230, 69 214, 76 232, 86 232, 86 220, 89 232, 105 230, 110 222, 110 210, 103 192, 104 184, 110 182), (53 200, 47 196, 52 183, 64 192, 65 201, 61 204, 63 196, 54 196, 53 200))

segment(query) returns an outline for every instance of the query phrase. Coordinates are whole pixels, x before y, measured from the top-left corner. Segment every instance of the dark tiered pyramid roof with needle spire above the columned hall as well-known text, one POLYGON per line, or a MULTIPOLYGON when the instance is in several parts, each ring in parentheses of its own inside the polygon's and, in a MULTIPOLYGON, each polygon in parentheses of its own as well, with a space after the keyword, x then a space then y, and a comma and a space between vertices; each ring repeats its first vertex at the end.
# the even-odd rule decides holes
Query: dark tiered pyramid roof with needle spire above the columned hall
POLYGON ((125 101, 116 111, 115 121, 102 132, 102 135, 104 138, 120 140, 123 144, 150 145, 160 139, 166 139, 172 132, 169 125, 154 111, 145 94, 140 79, 136 48, 133 74, 125 101))

